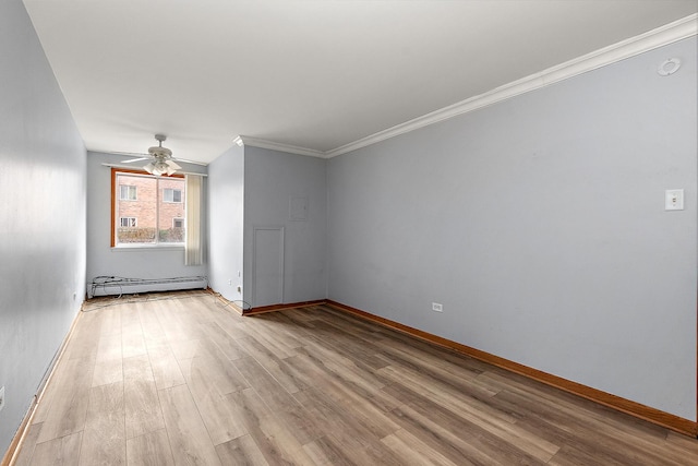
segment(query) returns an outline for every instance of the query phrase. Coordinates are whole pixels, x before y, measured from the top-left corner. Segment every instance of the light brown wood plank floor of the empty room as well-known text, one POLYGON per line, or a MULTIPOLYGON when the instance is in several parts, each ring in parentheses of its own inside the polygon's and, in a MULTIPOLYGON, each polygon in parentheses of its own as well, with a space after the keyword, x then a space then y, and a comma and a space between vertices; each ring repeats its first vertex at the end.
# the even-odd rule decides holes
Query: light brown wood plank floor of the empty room
POLYGON ((93 300, 16 465, 698 465, 698 441, 325 306, 93 300))

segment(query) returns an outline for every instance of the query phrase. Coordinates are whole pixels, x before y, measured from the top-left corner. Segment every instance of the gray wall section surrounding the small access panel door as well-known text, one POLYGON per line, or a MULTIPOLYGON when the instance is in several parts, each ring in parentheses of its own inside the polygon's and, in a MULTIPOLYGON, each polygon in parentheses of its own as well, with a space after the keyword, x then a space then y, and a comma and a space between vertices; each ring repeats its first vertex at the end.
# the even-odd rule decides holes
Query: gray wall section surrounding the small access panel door
MULTIPOLYGON (((244 288, 252 300, 255 227, 284 227, 284 301, 326 297, 326 160, 244 147, 244 288), (292 200, 306 200, 304 220, 293 220, 292 200)), ((252 302, 252 306, 256 306, 252 302)))

